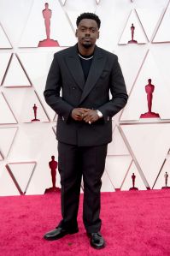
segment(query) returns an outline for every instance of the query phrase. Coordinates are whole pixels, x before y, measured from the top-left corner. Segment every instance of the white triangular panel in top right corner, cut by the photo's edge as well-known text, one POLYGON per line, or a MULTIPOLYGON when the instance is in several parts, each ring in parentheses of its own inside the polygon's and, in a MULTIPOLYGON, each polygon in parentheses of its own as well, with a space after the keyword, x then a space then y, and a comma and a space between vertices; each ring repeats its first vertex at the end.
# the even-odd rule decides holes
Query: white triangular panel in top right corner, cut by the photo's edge
POLYGON ((170 42, 169 23, 170 23, 170 4, 167 7, 167 11, 161 21, 161 25, 158 28, 158 31, 155 34, 155 38, 153 40, 154 43, 170 42))

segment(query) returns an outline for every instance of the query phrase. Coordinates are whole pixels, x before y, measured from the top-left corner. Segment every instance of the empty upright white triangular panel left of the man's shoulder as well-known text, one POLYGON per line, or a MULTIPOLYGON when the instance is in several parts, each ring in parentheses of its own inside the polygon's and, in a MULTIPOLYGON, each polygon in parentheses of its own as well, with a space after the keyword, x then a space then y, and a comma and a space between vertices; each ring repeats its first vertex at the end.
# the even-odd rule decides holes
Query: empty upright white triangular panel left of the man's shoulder
POLYGON ((19 62, 15 54, 12 57, 5 80, 3 81, 3 86, 31 86, 29 80, 26 77, 26 73, 21 67, 21 63, 19 62))

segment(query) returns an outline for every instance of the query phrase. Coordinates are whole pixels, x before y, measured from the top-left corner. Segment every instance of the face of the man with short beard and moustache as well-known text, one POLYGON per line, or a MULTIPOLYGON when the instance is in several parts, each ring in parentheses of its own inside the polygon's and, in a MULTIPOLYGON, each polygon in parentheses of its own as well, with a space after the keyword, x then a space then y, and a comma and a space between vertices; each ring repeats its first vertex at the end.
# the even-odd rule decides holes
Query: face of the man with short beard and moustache
POLYGON ((95 45, 99 38, 97 22, 91 19, 81 20, 75 35, 78 38, 79 45, 90 48, 95 45))

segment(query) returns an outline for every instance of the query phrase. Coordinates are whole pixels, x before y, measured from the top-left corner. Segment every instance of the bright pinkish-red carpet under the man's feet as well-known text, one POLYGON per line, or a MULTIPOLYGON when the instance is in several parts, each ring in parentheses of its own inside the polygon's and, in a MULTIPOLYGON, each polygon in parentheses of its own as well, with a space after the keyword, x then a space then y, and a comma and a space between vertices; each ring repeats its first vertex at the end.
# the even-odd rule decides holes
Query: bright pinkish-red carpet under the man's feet
POLYGON ((102 194, 102 233, 107 247, 90 247, 82 223, 79 233, 45 241, 60 216, 60 195, 0 198, 0 255, 31 256, 169 256, 170 191, 153 190, 102 194))

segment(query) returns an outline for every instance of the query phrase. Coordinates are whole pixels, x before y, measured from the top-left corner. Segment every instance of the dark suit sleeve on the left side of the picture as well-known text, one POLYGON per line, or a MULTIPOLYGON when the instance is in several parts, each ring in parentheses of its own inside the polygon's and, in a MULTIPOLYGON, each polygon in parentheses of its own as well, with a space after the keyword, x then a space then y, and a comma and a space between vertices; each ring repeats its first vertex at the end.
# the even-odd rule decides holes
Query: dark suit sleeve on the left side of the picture
POLYGON ((47 104, 62 116, 63 121, 67 122, 67 118, 73 110, 73 106, 68 104, 61 97, 62 75, 56 54, 50 66, 47 76, 46 86, 44 90, 44 98, 47 104))

